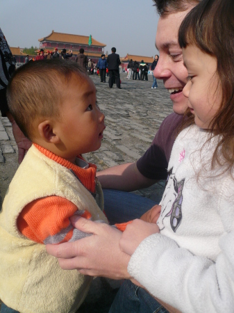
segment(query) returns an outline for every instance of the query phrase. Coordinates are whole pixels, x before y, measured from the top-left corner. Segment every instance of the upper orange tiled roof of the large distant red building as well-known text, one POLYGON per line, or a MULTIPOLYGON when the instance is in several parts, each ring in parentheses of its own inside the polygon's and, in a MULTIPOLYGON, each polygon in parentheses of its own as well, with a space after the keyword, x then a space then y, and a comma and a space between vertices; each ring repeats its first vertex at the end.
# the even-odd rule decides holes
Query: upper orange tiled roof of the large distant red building
MULTIPOLYGON (((83 35, 72 35, 69 33, 56 33, 52 31, 47 37, 38 39, 38 41, 42 42, 44 40, 49 41, 56 41, 56 42, 66 42, 66 43, 74 43, 79 45, 88 45, 90 36, 83 36, 83 35)), ((92 46, 101 46, 106 47, 105 44, 97 41, 92 37, 92 46)))

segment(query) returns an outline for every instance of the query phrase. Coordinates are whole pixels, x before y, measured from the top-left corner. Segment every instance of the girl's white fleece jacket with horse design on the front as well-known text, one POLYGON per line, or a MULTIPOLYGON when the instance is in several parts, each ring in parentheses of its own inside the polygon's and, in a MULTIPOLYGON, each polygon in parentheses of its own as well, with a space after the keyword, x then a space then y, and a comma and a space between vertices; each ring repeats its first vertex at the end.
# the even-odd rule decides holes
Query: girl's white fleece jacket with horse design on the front
POLYGON ((234 180, 210 170, 218 138, 189 127, 176 138, 158 219, 128 272, 181 312, 234 312, 234 180), (199 181, 197 174, 199 173, 199 181))

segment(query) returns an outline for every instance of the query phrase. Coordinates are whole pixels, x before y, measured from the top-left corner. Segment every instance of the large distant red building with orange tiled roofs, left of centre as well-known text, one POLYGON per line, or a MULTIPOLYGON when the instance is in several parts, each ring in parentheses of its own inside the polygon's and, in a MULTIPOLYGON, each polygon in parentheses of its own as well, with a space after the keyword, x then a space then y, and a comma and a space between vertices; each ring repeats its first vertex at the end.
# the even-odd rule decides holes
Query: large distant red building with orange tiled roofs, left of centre
POLYGON ((67 51, 72 50, 74 54, 72 58, 75 58, 79 53, 79 49, 83 48, 87 58, 97 62, 101 58, 101 54, 104 54, 104 47, 106 45, 92 38, 92 45, 89 46, 89 37, 52 31, 47 37, 41 38, 38 41, 40 42, 40 48, 43 48, 45 51, 53 51, 54 48, 58 48, 59 53, 62 49, 67 49, 67 51))

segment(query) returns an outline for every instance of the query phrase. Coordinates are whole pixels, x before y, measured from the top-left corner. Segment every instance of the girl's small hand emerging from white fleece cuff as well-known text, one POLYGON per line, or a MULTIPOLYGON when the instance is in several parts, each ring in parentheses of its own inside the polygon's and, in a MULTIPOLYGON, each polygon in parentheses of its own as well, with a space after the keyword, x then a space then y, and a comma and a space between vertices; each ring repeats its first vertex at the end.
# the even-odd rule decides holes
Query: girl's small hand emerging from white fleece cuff
POLYGON ((119 240, 120 249, 127 255, 133 255, 140 243, 151 234, 160 232, 158 225, 143 220, 133 220, 124 230, 119 240))

